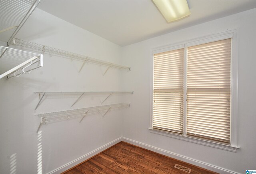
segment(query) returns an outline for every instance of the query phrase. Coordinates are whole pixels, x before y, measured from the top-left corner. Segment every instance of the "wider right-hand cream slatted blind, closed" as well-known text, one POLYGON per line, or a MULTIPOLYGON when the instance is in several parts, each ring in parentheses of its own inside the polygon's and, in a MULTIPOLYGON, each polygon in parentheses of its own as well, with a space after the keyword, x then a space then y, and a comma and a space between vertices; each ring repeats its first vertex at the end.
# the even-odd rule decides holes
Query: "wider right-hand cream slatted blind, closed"
POLYGON ((188 47, 187 136, 230 144, 231 39, 188 47))

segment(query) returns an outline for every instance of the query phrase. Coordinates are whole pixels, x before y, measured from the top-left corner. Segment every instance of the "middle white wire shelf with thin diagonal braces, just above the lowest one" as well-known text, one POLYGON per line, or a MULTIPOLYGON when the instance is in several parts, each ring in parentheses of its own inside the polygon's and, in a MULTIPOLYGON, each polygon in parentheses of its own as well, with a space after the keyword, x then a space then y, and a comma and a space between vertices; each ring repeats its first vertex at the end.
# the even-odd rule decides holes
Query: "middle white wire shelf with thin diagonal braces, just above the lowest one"
MULTIPOLYGON (((80 95, 79 98, 72 104, 76 104, 84 95, 96 95, 96 94, 108 94, 108 96, 101 103, 105 102, 111 95, 113 94, 133 94, 133 91, 97 91, 97 92, 35 92, 35 94, 39 94, 39 102, 36 105, 35 110, 42 103, 42 99, 44 96, 71 96, 71 95, 80 95)), ((72 107, 71 106, 71 107, 72 107)))

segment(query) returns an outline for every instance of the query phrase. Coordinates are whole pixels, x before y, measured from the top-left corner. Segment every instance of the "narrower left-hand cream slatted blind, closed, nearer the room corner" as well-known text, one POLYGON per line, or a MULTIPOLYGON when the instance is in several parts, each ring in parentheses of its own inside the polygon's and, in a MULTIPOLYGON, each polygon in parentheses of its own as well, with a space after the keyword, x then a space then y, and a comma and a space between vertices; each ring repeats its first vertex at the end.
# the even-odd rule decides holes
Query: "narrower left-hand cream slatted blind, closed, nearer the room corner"
POLYGON ((154 54, 153 128, 183 134, 184 49, 154 54))

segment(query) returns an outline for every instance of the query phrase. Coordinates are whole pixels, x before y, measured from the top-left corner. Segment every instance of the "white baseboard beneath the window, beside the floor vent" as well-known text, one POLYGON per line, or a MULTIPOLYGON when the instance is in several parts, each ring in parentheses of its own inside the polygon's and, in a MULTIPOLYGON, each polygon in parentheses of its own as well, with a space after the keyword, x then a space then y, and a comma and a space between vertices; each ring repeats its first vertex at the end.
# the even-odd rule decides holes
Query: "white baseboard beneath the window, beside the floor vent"
POLYGON ((211 165, 211 164, 207 164, 205 162, 194 160, 192 158, 188 158, 186 156, 175 154, 175 153, 169 152, 169 151, 164 150, 164 149, 160 149, 160 148, 157 148, 157 147, 154 147, 154 146, 150 146, 148 144, 144 144, 142 142, 131 140, 129 138, 122 137, 122 141, 128 142, 128 143, 133 144, 135 146, 139 146, 139 147, 151 150, 153 152, 157 152, 159 154, 163 154, 163 155, 169 156, 171 158, 175 158, 177 160, 184 161, 184 162, 187 162, 189 164, 193 164, 195 166, 202 167, 202 168, 205 168, 207 170, 211 170, 211 171, 214 171, 214 172, 217 172, 217 173, 220 173, 220 174, 238 174, 236 172, 226 170, 224 168, 220 168, 220 167, 217 167, 217 166, 214 166, 214 165, 211 165))

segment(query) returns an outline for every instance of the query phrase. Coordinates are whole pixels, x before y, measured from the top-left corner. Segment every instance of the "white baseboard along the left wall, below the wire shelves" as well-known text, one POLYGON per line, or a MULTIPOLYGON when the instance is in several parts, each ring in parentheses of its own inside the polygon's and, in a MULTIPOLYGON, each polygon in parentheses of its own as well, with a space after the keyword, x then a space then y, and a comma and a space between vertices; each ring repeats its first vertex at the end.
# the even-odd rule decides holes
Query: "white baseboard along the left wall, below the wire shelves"
POLYGON ((48 174, 60 174, 61 172, 64 172, 74 166, 76 166, 77 164, 91 158, 92 156, 106 150, 107 148, 110 148, 111 146, 114 146, 115 144, 117 144, 118 142, 122 141, 122 137, 120 138, 117 138, 116 140, 112 141, 112 142, 109 142, 108 144, 105 144, 104 146, 101 146, 91 152, 89 152, 88 154, 85 154, 71 162, 69 162, 68 164, 65 164, 55 170, 52 170, 51 172, 49 172, 48 174))

